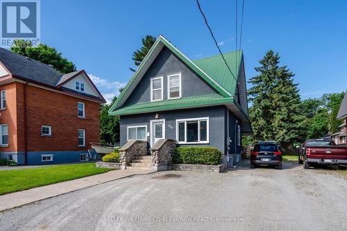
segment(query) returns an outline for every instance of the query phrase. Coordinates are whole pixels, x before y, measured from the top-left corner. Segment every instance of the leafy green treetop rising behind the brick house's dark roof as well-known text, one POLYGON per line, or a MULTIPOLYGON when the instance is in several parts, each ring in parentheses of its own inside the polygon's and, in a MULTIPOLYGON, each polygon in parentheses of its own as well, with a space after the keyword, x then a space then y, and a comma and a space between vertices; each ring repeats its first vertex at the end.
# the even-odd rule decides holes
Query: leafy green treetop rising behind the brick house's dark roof
POLYGON ((10 49, 19 55, 43 62, 46 65, 52 65, 54 69, 62 74, 76 71, 74 63, 62 57, 62 53, 58 52, 54 47, 46 44, 32 46, 31 44, 26 44, 24 40, 15 40, 10 49))

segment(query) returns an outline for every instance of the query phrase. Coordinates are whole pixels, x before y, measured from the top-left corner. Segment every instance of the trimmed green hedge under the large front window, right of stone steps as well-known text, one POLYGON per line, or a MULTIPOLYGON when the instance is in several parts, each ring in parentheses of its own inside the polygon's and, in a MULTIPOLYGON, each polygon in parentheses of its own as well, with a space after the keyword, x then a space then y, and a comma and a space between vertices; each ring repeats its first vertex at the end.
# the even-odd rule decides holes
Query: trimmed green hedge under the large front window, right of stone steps
POLYGON ((221 151, 212 147, 179 147, 172 157, 174 164, 219 164, 221 151))

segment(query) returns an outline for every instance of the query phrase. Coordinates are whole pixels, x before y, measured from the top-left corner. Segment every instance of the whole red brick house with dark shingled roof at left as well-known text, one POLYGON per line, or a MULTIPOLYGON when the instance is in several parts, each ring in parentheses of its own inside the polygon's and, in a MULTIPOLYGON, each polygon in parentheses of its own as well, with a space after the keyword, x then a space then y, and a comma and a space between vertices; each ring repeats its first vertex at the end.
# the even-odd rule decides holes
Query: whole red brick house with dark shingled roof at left
POLYGON ((0 156, 18 164, 87 159, 105 99, 84 70, 61 74, 0 48, 0 156))

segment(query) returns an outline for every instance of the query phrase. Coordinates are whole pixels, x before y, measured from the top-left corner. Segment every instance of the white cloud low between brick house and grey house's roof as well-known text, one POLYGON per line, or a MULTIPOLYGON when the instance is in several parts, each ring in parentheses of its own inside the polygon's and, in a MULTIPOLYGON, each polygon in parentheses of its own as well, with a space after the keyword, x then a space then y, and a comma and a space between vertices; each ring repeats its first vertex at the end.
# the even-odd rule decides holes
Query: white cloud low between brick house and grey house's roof
POLYGON ((98 87, 99 91, 103 95, 103 98, 107 103, 111 103, 113 97, 119 95, 119 89, 125 87, 126 83, 121 83, 119 81, 110 81, 105 78, 100 78, 94 76, 93 74, 88 74, 93 83, 98 87))

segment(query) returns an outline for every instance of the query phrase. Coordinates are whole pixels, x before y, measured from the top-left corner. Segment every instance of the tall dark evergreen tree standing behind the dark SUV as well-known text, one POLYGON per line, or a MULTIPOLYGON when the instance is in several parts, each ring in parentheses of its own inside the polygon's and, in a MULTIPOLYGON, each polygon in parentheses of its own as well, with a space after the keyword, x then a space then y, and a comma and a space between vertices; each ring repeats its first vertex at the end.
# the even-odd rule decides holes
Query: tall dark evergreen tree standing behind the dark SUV
POLYGON ((287 67, 279 67, 280 56, 273 51, 268 51, 260 64, 255 67, 259 75, 248 82, 253 85, 248 90, 253 103, 249 113, 253 139, 297 140, 303 131, 303 116, 294 74, 287 67))

